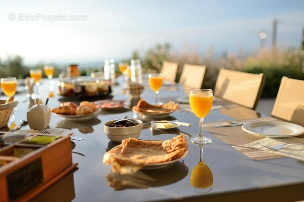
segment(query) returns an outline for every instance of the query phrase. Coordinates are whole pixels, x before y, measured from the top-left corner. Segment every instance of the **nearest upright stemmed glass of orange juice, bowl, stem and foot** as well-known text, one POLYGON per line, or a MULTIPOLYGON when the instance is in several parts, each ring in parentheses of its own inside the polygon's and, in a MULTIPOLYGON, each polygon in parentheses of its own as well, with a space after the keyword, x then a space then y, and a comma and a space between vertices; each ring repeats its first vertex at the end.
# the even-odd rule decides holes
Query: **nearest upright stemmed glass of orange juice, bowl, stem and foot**
POLYGON ((204 137, 202 133, 203 119, 209 113, 213 102, 213 93, 211 89, 193 89, 190 90, 189 103, 192 112, 198 118, 199 135, 192 138, 192 143, 207 144, 211 142, 210 138, 204 137))

